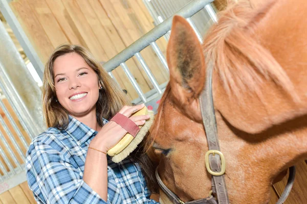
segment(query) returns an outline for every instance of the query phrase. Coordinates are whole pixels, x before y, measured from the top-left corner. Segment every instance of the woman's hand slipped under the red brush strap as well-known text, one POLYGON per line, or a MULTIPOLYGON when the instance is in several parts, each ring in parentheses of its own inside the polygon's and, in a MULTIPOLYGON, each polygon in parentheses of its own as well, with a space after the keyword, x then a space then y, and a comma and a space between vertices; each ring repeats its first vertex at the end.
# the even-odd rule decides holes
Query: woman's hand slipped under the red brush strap
MULTIPOLYGON (((136 125, 140 126, 145 123, 145 120, 149 119, 149 115, 131 116, 131 114, 141 110, 145 105, 141 104, 138 106, 124 106, 119 113, 130 118, 136 125)), ((99 149, 103 152, 107 152, 109 149, 114 147, 125 135, 127 131, 123 129, 119 124, 114 121, 109 121, 103 125, 101 130, 91 141, 90 147, 99 149)))

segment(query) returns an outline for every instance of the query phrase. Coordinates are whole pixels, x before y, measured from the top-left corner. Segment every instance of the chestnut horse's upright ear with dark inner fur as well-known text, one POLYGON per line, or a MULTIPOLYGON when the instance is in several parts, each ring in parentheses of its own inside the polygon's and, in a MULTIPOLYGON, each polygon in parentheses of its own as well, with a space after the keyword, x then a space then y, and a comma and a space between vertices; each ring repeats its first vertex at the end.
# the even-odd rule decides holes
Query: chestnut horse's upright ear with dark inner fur
POLYGON ((174 16, 167 46, 170 86, 174 96, 185 103, 199 97, 205 84, 202 46, 190 24, 174 16))

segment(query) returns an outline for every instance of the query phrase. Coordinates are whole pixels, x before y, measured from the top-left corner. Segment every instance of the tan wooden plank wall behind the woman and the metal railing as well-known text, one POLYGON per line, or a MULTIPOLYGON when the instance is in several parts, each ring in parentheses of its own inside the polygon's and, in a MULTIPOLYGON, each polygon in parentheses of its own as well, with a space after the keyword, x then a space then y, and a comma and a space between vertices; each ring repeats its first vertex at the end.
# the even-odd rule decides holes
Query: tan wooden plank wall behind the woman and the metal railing
MULTIPOLYGON (((105 62, 154 27, 142 0, 15 0, 10 7, 44 64, 65 42, 83 45, 105 62)), ((166 41, 157 43, 165 53, 166 41)), ((141 54, 157 81, 166 82, 168 75, 155 52, 147 47, 141 54)), ((127 65, 144 92, 153 88, 136 59, 127 65)), ((121 68, 113 74, 130 99, 138 97, 121 68)))

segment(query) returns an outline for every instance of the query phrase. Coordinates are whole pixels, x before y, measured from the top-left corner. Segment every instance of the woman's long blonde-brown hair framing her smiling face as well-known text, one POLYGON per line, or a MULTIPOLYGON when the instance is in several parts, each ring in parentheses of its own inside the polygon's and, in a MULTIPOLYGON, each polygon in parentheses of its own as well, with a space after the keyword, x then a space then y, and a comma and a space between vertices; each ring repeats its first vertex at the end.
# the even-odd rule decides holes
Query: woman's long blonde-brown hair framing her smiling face
POLYGON ((56 101, 53 72, 55 59, 68 53, 80 55, 98 75, 98 82, 102 86, 102 89, 99 89, 99 97, 96 103, 96 117, 99 125, 102 126, 102 118, 109 120, 123 106, 130 105, 124 92, 88 50, 80 45, 62 44, 51 54, 43 74, 42 108, 47 127, 65 129, 69 123, 68 111, 56 101))

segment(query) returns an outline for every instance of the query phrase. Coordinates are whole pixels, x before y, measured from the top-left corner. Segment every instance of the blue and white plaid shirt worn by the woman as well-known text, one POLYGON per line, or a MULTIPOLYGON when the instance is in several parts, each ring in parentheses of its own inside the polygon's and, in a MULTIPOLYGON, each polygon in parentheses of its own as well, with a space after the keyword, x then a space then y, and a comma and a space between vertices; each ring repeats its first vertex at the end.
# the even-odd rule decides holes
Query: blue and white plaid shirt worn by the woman
MULTIPOLYGON (((149 199, 140 166, 107 156, 107 202, 83 181, 87 148, 96 131, 69 117, 65 130, 55 127, 38 135, 27 151, 26 170, 37 203, 157 203, 149 199)), ((104 124, 107 120, 104 120, 104 124)))

